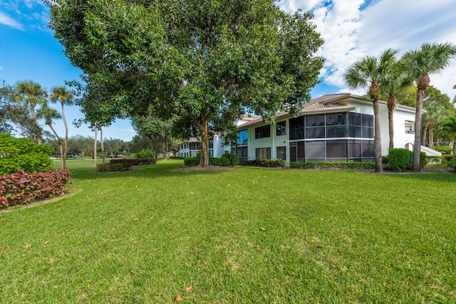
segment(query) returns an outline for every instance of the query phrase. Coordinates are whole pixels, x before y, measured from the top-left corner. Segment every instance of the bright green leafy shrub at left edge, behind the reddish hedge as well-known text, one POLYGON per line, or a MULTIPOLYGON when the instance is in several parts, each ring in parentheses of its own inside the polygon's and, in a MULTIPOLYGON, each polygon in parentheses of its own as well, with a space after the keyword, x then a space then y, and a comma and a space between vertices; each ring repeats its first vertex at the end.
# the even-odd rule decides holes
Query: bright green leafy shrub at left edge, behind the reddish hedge
POLYGON ((24 172, 46 172, 52 169, 49 155, 52 148, 36 145, 28 138, 14 138, 0 133, 0 174, 12 174, 24 169, 24 172))

